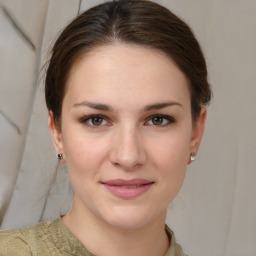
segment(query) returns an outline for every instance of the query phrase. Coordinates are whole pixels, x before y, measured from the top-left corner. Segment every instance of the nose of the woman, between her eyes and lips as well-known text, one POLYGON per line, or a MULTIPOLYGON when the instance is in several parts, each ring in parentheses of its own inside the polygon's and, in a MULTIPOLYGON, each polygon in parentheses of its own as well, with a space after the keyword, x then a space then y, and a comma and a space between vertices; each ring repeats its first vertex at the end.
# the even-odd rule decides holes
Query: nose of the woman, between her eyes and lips
POLYGON ((147 160, 143 139, 134 127, 120 128, 114 135, 110 161, 126 171, 133 171, 147 160))

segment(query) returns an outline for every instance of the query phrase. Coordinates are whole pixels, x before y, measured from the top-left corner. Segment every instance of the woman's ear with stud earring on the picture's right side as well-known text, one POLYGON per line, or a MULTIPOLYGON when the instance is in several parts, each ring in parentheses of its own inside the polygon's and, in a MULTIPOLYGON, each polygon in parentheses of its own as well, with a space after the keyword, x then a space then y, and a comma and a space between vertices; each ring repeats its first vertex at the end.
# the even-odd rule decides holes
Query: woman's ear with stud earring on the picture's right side
MULTIPOLYGON (((207 110, 205 107, 201 108, 200 115, 194 124, 193 130, 192 130, 192 136, 191 136, 191 141, 190 141, 190 154, 193 152, 195 155, 198 152, 201 139, 203 137, 204 133, 204 127, 205 127, 205 120, 207 116, 207 110)), ((188 164, 191 163, 190 156, 188 159, 188 164)))

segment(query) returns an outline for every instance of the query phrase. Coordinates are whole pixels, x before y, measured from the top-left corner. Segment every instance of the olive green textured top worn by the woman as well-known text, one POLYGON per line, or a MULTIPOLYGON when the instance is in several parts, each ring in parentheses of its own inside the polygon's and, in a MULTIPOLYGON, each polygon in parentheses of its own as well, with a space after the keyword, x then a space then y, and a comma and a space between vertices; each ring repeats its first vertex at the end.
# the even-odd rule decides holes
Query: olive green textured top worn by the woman
MULTIPOLYGON (((186 256, 166 226, 170 247, 165 256, 186 256)), ((0 256, 94 256, 69 231, 61 219, 23 229, 0 232, 0 256)))

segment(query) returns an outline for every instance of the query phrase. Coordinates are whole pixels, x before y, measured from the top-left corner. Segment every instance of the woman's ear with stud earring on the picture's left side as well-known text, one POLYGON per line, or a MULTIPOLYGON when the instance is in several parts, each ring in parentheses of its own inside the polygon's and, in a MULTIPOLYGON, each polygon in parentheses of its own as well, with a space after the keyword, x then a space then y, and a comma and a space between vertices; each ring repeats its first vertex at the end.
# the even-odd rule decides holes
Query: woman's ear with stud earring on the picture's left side
MULTIPOLYGON (((52 111, 49 111, 48 116, 48 127, 50 129, 50 132, 52 134, 52 140, 55 148, 56 154, 63 154, 63 142, 62 142, 62 136, 60 128, 56 125, 53 117, 52 111)), ((64 162, 64 156, 61 162, 64 162)))

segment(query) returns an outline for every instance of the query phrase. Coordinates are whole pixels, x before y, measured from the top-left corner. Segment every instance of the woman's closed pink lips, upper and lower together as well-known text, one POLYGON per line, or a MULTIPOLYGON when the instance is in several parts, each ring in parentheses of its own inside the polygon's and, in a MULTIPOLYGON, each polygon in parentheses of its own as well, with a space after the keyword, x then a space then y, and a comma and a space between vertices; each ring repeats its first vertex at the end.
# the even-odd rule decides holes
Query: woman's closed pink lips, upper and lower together
POLYGON ((133 180, 109 180, 102 182, 102 184, 114 195, 124 198, 132 199, 144 194, 154 182, 144 179, 133 180))

